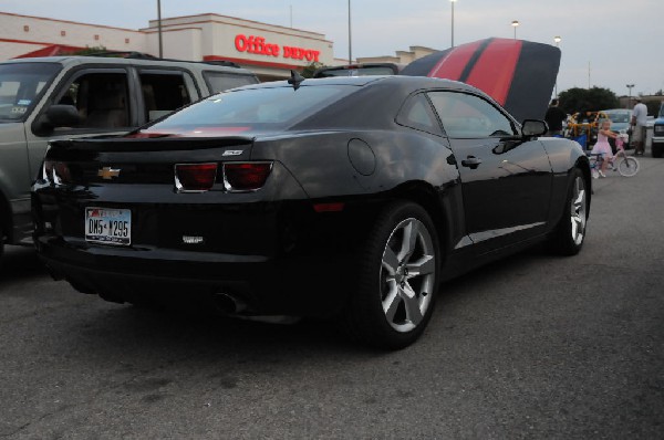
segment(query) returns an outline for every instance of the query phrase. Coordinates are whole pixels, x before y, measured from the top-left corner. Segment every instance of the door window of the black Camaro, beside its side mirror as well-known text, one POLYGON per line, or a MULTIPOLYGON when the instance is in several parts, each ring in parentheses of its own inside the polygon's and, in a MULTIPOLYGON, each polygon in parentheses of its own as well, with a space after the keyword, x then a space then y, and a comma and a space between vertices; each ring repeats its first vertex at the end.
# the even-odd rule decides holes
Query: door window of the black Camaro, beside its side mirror
POLYGON ((511 121, 479 96, 460 92, 430 92, 429 97, 449 137, 517 135, 511 121))

